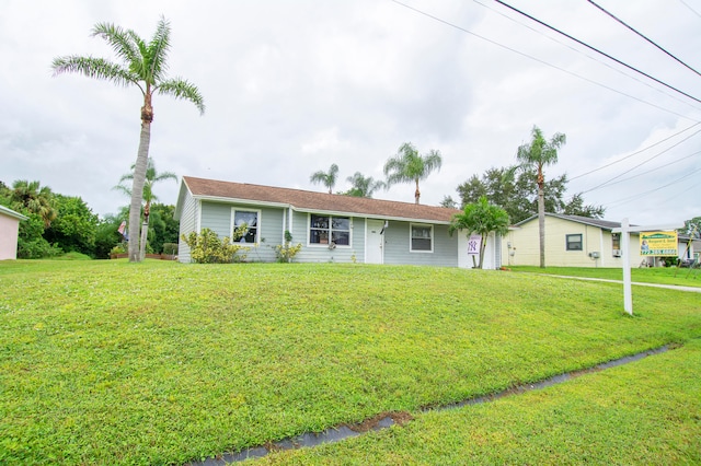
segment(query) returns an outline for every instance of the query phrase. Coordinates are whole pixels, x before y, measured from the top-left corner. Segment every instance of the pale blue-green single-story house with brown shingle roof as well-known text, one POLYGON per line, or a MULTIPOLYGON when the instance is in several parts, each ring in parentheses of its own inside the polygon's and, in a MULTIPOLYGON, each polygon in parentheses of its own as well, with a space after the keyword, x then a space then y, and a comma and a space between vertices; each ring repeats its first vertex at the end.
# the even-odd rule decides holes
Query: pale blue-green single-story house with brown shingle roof
MULTIPOLYGON (((241 240, 246 259, 275 261, 275 245, 285 231, 302 249, 299 263, 365 263, 472 267, 464 233, 448 234, 459 210, 409 202, 314 193, 300 189, 220 182, 184 176, 175 219, 180 233, 207 228, 231 237, 245 222, 241 240)), ((497 268, 499 242, 487 243, 484 268, 497 268)), ((181 238, 179 258, 189 263, 181 238)))

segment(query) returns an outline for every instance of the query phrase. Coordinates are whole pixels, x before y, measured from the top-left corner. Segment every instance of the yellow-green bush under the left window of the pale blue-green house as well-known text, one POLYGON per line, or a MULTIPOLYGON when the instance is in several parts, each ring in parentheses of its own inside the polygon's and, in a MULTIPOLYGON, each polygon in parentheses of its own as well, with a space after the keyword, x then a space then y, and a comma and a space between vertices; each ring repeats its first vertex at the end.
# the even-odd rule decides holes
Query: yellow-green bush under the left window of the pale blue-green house
MULTIPOLYGON (((233 232, 233 241, 238 241, 249 230, 244 223, 233 232)), ((197 264, 229 264, 245 260, 245 254, 240 251, 249 251, 249 247, 238 243, 231 243, 228 236, 219 238, 217 233, 204 229, 199 234, 191 232, 182 235, 182 240, 189 246, 189 257, 197 264)))

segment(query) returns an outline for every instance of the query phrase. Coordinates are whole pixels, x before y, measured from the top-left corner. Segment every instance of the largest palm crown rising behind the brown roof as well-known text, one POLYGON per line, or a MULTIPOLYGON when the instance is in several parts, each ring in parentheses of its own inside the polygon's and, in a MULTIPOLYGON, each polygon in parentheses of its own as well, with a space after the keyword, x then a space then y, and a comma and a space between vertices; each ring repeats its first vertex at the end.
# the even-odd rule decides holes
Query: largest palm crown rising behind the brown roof
POLYGON ((422 156, 411 142, 404 142, 399 148, 395 156, 390 158, 384 164, 384 175, 387 176, 387 186, 397 183, 415 183, 416 191, 414 198, 418 203, 421 191, 418 190, 418 180, 426 179, 430 172, 440 170, 443 158, 440 152, 430 150, 427 155, 422 156))

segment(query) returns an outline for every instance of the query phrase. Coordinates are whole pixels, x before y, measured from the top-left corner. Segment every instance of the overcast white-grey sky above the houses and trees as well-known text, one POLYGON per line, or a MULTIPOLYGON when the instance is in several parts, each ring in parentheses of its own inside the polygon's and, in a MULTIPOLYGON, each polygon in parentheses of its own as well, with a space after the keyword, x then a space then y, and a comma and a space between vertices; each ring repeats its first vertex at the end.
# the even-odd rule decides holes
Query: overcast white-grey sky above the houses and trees
MULTIPOLYGON (((0 180, 37 179, 95 213, 128 199, 111 189, 136 160, 141 94, 82 75, 51 77, 64 55, 113 58, 90 36, 111 22, 149 39, 172 26, 170 75, 198 86, 189 102, 154 97, 151 150, 179 176, 324 190, 312 172, 382 179, 403 142, 443 154, 422 203, 515 163, 533 125, 567 143, 545 176, 607 220, 679 223, 701 215, 701 0, 506 3, 635 67, 669 88, 493 0, 2 0, 0 180), (696 126, 694 126, 696 125, 696 126)), ((156 193, 175 203, 177 184, 156 193)), ((413 201, 411 185, 377 198, 413 201)))

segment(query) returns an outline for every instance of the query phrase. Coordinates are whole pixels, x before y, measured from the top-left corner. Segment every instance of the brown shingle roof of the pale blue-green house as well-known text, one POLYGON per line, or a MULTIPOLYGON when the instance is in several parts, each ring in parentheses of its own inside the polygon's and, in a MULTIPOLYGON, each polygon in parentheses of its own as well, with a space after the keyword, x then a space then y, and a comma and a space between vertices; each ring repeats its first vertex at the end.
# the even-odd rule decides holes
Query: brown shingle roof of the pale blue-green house
POLYGON ((460 212, 460 210, 445 207, 246 183, 221 182, 192 176, 183 176, 183 183, 196 198, 279 205, 280 207, 291 207, 302 211, 337 212, 357 217, 393 218, 438 223, 449 223, 452 215, 460 212))

